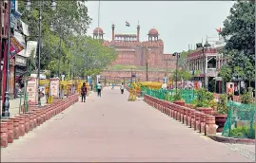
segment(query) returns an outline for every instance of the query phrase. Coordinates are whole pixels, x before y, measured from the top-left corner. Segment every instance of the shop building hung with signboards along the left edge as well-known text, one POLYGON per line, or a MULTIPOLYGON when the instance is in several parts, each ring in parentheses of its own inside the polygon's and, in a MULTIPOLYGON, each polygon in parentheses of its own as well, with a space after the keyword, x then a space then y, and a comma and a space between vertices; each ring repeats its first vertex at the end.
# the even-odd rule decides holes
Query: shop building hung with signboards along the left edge
POLYGON ((9 92, 10 99, 14 97, 15 82, 27 71, 26 35, 29 35, 28 26, 20 20, 21 13, 18 11, 18 2, 15 0, 0 2, 0 29, 1 29, 1 98, 4 99, 6 92, 6 68, 10 61, 9 92), (9 9, 10 7, 10 9, 9 9), (10 22, 9 22, 9 10, 10 22), (8 36, 10 28, 10 51, 8 51, 8 36), (10 56, 9 56, 10 54, 10 56), (3 96, 2 96, 3 95, 3 96))

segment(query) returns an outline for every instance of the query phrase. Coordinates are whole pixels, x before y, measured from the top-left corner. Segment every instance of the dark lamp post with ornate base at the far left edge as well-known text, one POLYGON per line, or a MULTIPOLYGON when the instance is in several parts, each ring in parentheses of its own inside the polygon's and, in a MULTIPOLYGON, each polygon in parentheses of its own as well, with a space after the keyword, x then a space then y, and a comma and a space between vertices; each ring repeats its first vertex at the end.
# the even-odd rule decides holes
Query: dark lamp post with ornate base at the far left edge
POLYGON ((9 27, 8 27, 8 48, 7 48, 7 61, 6 62, 6 93, 5 93, 5 101, 3 104, 2 108, 2 117, 3 118, 9 118, 10 117, 10 101, 9 101, 9 77, 10 77, 10 3, 9 1, 9 12, 8 12, 8 22, 9 22, 9 27))

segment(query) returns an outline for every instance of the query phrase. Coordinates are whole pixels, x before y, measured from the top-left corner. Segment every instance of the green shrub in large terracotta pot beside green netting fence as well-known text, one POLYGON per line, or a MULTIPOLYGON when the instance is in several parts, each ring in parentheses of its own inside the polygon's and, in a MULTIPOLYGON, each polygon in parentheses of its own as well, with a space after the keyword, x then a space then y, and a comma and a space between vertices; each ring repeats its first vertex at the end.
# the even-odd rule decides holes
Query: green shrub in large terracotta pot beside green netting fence
POLYGON ((217 104, 217 114, 215 116, 215 124, 218 125, 217 133, 222 133, 227 118, 227 95, 223 94, 220 96, 217 104))

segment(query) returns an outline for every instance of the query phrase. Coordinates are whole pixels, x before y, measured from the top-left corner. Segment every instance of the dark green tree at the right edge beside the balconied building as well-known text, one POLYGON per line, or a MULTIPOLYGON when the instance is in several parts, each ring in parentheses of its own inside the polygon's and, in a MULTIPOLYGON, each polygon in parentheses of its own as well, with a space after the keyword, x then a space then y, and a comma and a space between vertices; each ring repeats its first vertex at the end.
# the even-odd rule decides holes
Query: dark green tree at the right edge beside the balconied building
POLYGON ((255 78, 255 3, 253 1, 238 1, 230 9, 230 14, 224 21, 220 33, 226 41, 223 50, 228 57, 228 66, 222 68, 222 75, 227 81, 227 75, 236 74, 237 68, 244 74, 246 81, 255 78))

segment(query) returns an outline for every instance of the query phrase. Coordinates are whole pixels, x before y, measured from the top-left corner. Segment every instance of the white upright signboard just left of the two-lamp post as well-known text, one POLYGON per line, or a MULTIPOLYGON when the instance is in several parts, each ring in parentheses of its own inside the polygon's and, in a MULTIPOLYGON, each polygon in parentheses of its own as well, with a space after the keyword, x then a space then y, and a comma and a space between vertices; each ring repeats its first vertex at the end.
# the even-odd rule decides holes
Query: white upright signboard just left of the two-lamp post
POLYGON ((27 85, 28 100, 30 105, 36 105, 38 102, 37 80, 30 77, 27 85))

